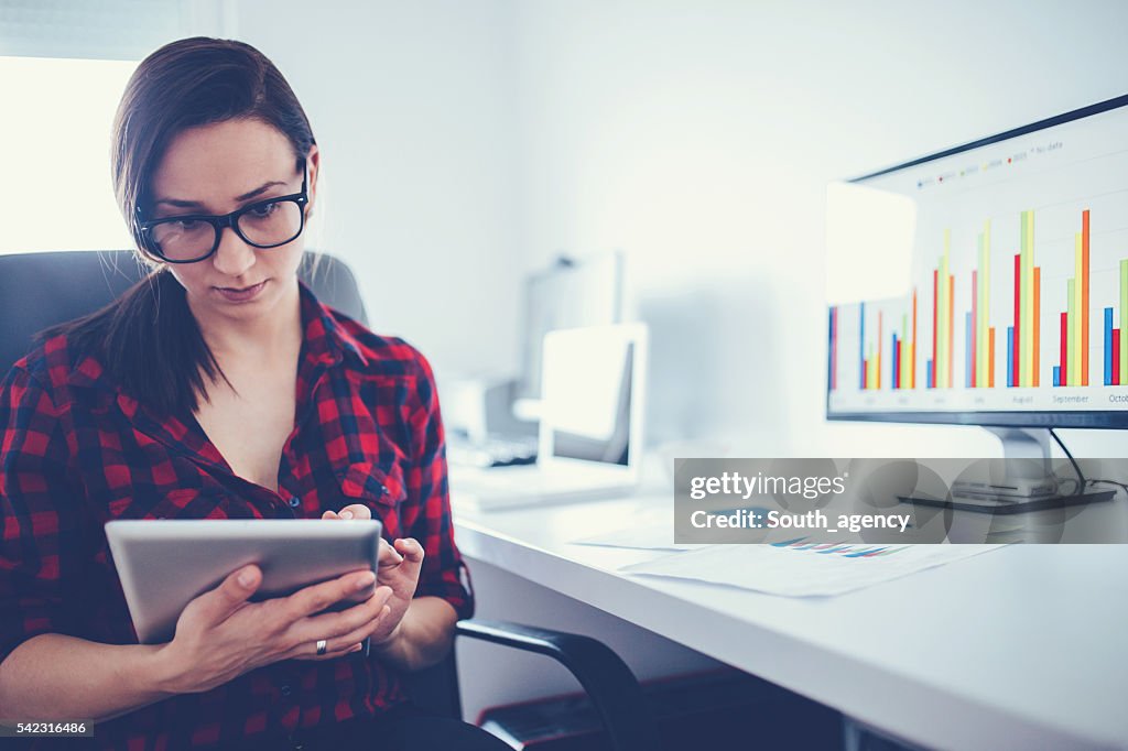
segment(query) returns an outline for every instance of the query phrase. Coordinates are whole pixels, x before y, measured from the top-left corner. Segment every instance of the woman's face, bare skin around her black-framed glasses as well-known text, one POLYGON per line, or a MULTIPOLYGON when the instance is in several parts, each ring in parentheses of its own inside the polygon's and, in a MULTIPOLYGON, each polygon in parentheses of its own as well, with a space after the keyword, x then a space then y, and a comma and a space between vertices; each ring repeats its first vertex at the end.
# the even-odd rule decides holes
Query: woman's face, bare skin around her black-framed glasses
MULTIPOLYGON (((153 175, 153 219, 227 214, 250 203, 301 191, 293 148, 275 127, 231 120, 178 134, 153 175)), ((308 193, 317 185, 317 147, 307 158, 308 193)), ((169 264, 197 319, 247 321, 270 316, 298 294, 305 232, 287 245, 259 249, 224 228, 215 253, 193 264, 169 264), (261 286, 259 286, 261 285, 261 286), (237 294, 238 290, 255 288, 237 294)))

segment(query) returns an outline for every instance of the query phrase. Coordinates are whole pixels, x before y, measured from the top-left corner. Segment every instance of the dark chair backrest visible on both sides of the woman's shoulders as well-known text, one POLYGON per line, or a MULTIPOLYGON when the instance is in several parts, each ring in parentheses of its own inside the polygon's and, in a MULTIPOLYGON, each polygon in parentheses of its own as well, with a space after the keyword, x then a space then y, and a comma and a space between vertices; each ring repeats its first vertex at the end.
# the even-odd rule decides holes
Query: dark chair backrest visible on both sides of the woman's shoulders
MULTIPOLYGON (((147 272, 132 250, 0 256, 0 376, 27 354, 37 332, 108 304, 147 272)), ((299 276, 318 300, 368 325, 356 279, 343 260, 307 251, 299 276)))

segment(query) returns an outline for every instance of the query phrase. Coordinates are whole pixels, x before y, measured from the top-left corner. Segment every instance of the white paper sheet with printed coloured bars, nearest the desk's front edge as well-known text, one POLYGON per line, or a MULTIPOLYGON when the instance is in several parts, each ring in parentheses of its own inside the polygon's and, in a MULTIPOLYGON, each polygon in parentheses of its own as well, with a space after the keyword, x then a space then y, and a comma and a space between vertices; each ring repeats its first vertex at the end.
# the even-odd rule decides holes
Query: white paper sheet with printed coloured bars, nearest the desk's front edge
POLYGON ((619 571, 728 584, 784 597, 817 597, 860 590, 1001 547, 711 545, 619 571))

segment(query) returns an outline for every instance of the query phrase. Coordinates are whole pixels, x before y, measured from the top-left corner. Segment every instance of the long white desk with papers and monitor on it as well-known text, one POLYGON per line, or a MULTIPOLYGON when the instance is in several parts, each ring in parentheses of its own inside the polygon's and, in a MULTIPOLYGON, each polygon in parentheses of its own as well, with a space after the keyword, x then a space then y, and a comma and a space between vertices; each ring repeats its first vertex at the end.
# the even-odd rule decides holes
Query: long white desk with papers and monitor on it
POLYGON ((462 553, 926 746, 1128 749, 1128 545, 1013 546, 793 599, 618 574, 571 544, 664 498, 470 515, 462 553))

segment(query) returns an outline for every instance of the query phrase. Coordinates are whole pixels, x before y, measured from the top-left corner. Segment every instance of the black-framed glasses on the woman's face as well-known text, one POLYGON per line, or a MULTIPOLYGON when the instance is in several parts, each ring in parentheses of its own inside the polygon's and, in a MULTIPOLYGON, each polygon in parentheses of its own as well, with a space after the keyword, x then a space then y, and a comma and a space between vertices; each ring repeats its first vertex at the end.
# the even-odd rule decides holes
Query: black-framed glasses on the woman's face
POLYGON ((182 214, 141 221, 138 206, 138 231, 144 249, 170 264, 194 264, 219 249, 224 227, 255 248, 276 248, 296 240, 306 227, 309 203, 309 169, 305 161, 301 169, 300 193, 256 201, 229 214, 182 214))

